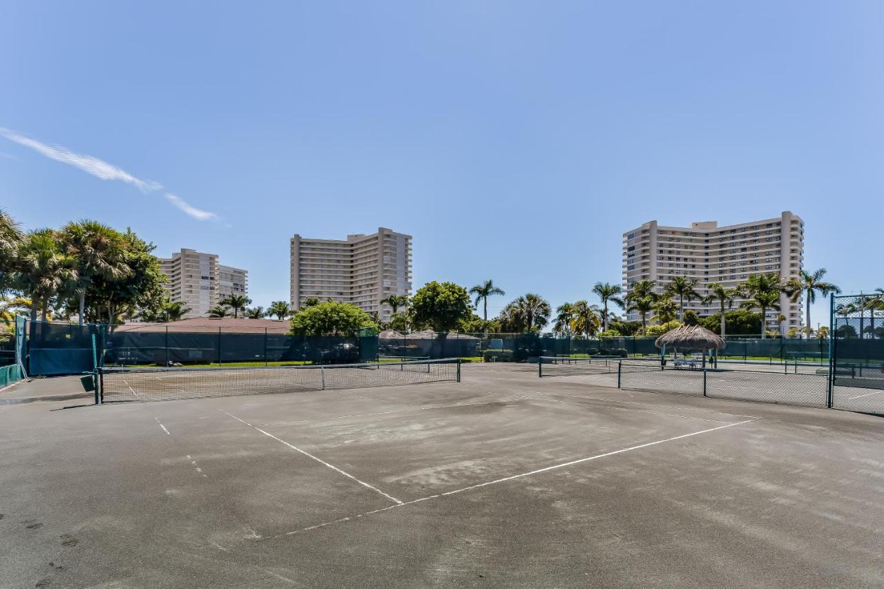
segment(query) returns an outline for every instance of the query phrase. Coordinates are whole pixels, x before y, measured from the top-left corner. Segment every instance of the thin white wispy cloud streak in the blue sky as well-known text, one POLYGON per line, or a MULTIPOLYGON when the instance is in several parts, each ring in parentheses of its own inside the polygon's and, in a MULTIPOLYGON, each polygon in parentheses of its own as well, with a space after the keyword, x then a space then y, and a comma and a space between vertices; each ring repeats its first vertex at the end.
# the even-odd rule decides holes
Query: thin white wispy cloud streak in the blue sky
MULTIPOLYGON (((19 145, 34 149, 37 153, 49 157, 50 159, 54 159, 57 162, 80 168, 80 170, 92 174, 95 178, 100 178, 101 180, 118 180, 120 182, 126 182, 126 184, 131 184, 133 187, 137 187, 141 190, 144 194, 156 192, 157 190, 162 190, 164 188, 159 182, 136 178, 129 172, 126 172, 126 170, 118 168, 116 165, 108 164, 97 157, 74 153, 70 149, 66 149, 60 145, 47 145, 2 126, 0 126, 0 135, 3 135, 11 142, 16 142, 19 143, 19 145)), ((166 200, 175 205, 179 210, 184 211, 187 215, 199 221, 217 218, 215 213, 210 212, 209 210, 197 209, 176 195, 171 195, 167 192, 165 193, 165 197, 166 200)))

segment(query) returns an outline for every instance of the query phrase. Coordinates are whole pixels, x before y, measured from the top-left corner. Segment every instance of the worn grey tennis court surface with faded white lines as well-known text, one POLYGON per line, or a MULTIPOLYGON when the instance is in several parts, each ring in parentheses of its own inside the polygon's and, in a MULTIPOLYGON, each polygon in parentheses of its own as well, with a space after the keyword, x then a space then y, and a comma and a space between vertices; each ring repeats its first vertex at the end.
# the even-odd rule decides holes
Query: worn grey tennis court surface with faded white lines
POLYGON ((0 406, 0 585, 884 582, 879 417, 461 372, 0 406))

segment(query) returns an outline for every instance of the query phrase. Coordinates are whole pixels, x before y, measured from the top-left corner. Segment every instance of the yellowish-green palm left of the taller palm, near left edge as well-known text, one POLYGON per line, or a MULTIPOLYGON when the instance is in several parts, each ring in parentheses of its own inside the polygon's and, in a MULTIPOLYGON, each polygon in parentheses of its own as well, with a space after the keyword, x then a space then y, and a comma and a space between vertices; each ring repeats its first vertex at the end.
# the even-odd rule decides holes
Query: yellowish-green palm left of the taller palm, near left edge
POLYGON ((50 301, 77 279, 77 261, 61 250, 51 229, 28 233, 18 260, 17 286, 31 297, 31 320, 39 307, 45 321, 50 301))

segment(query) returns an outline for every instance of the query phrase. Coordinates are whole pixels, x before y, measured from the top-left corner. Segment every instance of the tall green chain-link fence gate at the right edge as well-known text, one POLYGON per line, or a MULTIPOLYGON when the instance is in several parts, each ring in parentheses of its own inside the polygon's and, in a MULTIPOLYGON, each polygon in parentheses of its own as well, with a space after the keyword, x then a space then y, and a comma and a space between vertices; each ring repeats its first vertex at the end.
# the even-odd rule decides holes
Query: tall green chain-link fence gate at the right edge
POLYGON ((830 314, 831 406, 884 414, 884 294, 833 296, 830 314))

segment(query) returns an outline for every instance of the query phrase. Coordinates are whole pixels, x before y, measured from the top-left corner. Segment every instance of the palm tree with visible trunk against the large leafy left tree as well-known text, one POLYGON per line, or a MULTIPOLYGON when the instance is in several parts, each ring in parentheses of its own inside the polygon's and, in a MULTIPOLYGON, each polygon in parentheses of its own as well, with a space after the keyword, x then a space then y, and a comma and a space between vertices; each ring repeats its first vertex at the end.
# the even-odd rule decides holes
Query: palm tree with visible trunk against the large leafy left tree
POLYGON ((86 292, 93 279, 118 280, 131 272, 124 260, 123 236, 98 221, 83 219, 62 227, 59 236, 65 254, 77 260, 74 294, 79 299, 78 315, 83 325, 86 292))

